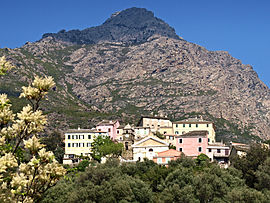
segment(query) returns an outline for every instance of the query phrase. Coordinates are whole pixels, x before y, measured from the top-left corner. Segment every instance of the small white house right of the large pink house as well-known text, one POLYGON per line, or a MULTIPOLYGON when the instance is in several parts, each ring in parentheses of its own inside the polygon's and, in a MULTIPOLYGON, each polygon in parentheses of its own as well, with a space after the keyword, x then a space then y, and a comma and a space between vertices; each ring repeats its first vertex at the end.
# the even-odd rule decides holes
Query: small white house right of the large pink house
POLYGON ((208 144, 206 155, 210 158, 210 161, 216 161, 219 165, 227 168, 229 165, 230 147, 225 146, 221 142, 208 144))

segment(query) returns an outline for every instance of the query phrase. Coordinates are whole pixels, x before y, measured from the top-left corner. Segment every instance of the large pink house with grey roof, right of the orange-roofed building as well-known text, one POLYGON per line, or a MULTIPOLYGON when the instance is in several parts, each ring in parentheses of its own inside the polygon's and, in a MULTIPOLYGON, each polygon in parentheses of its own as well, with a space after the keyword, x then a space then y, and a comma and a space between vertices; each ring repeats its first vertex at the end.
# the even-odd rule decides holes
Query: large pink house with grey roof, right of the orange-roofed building
POLYGON ((206 154, 208 147, 208 131, 190 131, 176 136, 176 150, 183 152, 186 156, 197 157, 206 154))

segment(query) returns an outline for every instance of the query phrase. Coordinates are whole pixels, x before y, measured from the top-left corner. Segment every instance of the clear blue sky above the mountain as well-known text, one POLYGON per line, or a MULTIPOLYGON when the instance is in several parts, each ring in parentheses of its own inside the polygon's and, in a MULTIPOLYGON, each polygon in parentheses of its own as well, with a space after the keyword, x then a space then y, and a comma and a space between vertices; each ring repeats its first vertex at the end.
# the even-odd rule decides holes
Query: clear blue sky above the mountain
POLYGON ((228 51, 270 86, 269 0, 2 0, 0 48, 61 29, 97 26, 130 7, 153 11, 187 41, 228 51))

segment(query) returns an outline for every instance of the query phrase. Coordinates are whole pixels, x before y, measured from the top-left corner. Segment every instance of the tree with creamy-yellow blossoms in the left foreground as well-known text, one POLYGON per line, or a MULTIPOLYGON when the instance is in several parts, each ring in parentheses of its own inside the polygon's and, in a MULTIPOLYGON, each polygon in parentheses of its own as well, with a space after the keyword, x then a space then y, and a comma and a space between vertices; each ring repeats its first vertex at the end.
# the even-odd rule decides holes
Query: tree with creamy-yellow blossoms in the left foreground
MULTIPOLYGON (((0 77, 11 68, 0 58, 0 77)), ((0 202, 38 201, 66 173, 38 138, 47 123, 39 104, 54 85, 52 77, 35 77, 22 87, 20 97, 31 105, 17 115, 7 95, 0 94, 0 202)))

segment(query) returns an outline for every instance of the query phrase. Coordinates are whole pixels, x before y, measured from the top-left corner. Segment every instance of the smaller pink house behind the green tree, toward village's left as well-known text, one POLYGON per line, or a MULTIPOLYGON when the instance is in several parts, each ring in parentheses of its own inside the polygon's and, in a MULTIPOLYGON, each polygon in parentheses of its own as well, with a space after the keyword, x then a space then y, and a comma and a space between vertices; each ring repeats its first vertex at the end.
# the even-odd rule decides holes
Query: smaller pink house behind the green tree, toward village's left
POLYGON ((120 126, 119 121, 101 121, 97 124, 96 129, 102 132, 108 132, 112 140, 115 140, 117 135, 117 128, 120 126))

